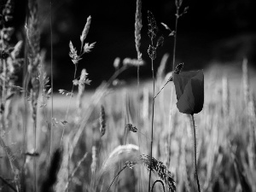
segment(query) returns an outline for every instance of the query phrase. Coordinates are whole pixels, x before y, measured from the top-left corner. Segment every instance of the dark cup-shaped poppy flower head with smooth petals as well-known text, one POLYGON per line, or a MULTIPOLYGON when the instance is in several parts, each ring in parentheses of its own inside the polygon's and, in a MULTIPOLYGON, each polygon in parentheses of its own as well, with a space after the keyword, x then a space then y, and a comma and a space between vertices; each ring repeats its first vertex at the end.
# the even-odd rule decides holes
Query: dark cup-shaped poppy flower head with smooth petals
POLYGON ((204 74, 202 70, 174 73, 177 108, 186 114, 200 113, 204 104, 204 74))

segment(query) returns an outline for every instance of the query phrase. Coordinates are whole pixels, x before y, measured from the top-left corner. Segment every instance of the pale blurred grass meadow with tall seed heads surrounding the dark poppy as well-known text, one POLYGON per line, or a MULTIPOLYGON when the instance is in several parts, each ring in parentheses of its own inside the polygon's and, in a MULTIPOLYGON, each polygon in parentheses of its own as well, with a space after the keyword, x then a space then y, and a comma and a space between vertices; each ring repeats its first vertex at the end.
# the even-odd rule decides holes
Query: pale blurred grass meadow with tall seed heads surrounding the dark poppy
MULTIPOLYGON (((157 55, 162 59, 154 68, 164 38, 156 38, 158 24, 148 12, 151 44, 143 56, 152 61, 153 78, 139 79, 145 62, 137 0, 137 58, 117 57, 113 76, 89 90, 90 74, 78 70, 97 46, 85 40, 88 16, 81 49, 70 41, 67 53, 73 88, 52 91, 38 43, 37 3, 29 1, 26 44, 15 46, 4 26, 8 3, 1 14, 0 191, 256 191, 256 72, 247 58, 189 71, 175 62, 178 34, 166 26, 175 39, 173 55, 157 55), (172 72, 166 72, 167 60, 173 60, 172 72), (119 79, 130 67, 137 68, 137 79, 119 79), (22 85, 16 84, 22 69, 22 85), (183 96, 189 99, 177 105, 183 96)), ((182 3, 176 1, 177 19, 187 11, 182 3)))

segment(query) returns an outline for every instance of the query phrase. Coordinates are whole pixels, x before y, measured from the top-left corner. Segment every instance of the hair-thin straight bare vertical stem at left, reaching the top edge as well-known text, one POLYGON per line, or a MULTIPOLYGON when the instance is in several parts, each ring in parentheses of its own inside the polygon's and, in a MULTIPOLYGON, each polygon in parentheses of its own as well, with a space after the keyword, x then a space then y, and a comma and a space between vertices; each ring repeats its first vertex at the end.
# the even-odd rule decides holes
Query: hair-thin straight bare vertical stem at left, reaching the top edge
POLYGON ((50 79, 51 79, 51 113, 50 113, 50 138, 49 138, 49 163, 52 153, 52 119, 53 119, 53 48, 52 48, 52 0, 50 0, 50 79))

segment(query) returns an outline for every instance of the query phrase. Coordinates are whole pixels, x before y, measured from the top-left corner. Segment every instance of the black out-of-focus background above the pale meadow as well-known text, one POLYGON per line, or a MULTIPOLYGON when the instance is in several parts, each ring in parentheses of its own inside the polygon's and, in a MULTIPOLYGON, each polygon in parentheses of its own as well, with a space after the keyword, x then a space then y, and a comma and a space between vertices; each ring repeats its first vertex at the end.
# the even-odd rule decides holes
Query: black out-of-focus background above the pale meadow
MULTIPOLYGON (((24 29, 26 2, 15 0, 16 37, 24 29)), ((247 57, 253 64, 256 61, 256 1, 255 0, 183 0, 184 7, 189 6, 188 14, 178 20, 177 26, 177 62, 184 62, 185 69, 205 68, 213 61, 230 63, 247 57)), ((46 49, 46 62, 49 68, 49 0, 39 0, 41 47, 46 49)), ((143 60, 142 78, 151 77, 151 64, 148 58, 149 38, 147 34, 147 10, 151 10, 160 28, 159 35, 165 37, 164 46, 157 51, 155 68, 165 53, 172 58, 173 38, 160 25, 166 23, 172 29, 175 25, 174 0, 143 0, 143 60)), ((69 41, 79 49, 79 37, 86 18, 91 15, 90 32, 85 42, 96 42, 95 49, 84 55, 79 62, 79 73, 86 68, 90 87, 96 87, 107 80, 114 72, 113 60, 116 57, 137 58, 134 38, 136 0, 81 1, 53 0, 53 48, 55 89, 70 89, 74 66, 68 56, 69 41)), ((172 59, 167 70, 171 70, 172 59)), ((121 78, 136 78, 137 69, 127 70, 121 78)))

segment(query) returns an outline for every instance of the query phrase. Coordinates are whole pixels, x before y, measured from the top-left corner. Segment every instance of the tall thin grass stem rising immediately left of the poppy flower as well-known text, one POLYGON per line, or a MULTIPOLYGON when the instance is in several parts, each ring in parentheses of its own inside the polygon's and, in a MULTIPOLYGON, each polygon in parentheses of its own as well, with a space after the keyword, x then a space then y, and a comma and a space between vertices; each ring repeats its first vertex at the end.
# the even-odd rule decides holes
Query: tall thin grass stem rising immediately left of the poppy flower
MULTIPOLYGON (((177 20, 178 20, 178 15, 179 15, 179 8, 177 7, 176 9, 176 20, 175 20, 175 33, 174 33, 174 43, 173 43, 173 55, 172 55, 172 80, 174 79, 174 69, 175 69, 175 59, 176 59, 176 44, 177 44, 177 20)), ((171 160, 171 155, 170 153, 170 148, 171 148, 171 135, 172 135, 172 100, 173 100, 173 86, 171 88, 171 101, 170 101, 170 111, 169 111, 169 136, 168 136, 168 160, 167 160, 167 167, 170 165, 170 160, 171 160)))

